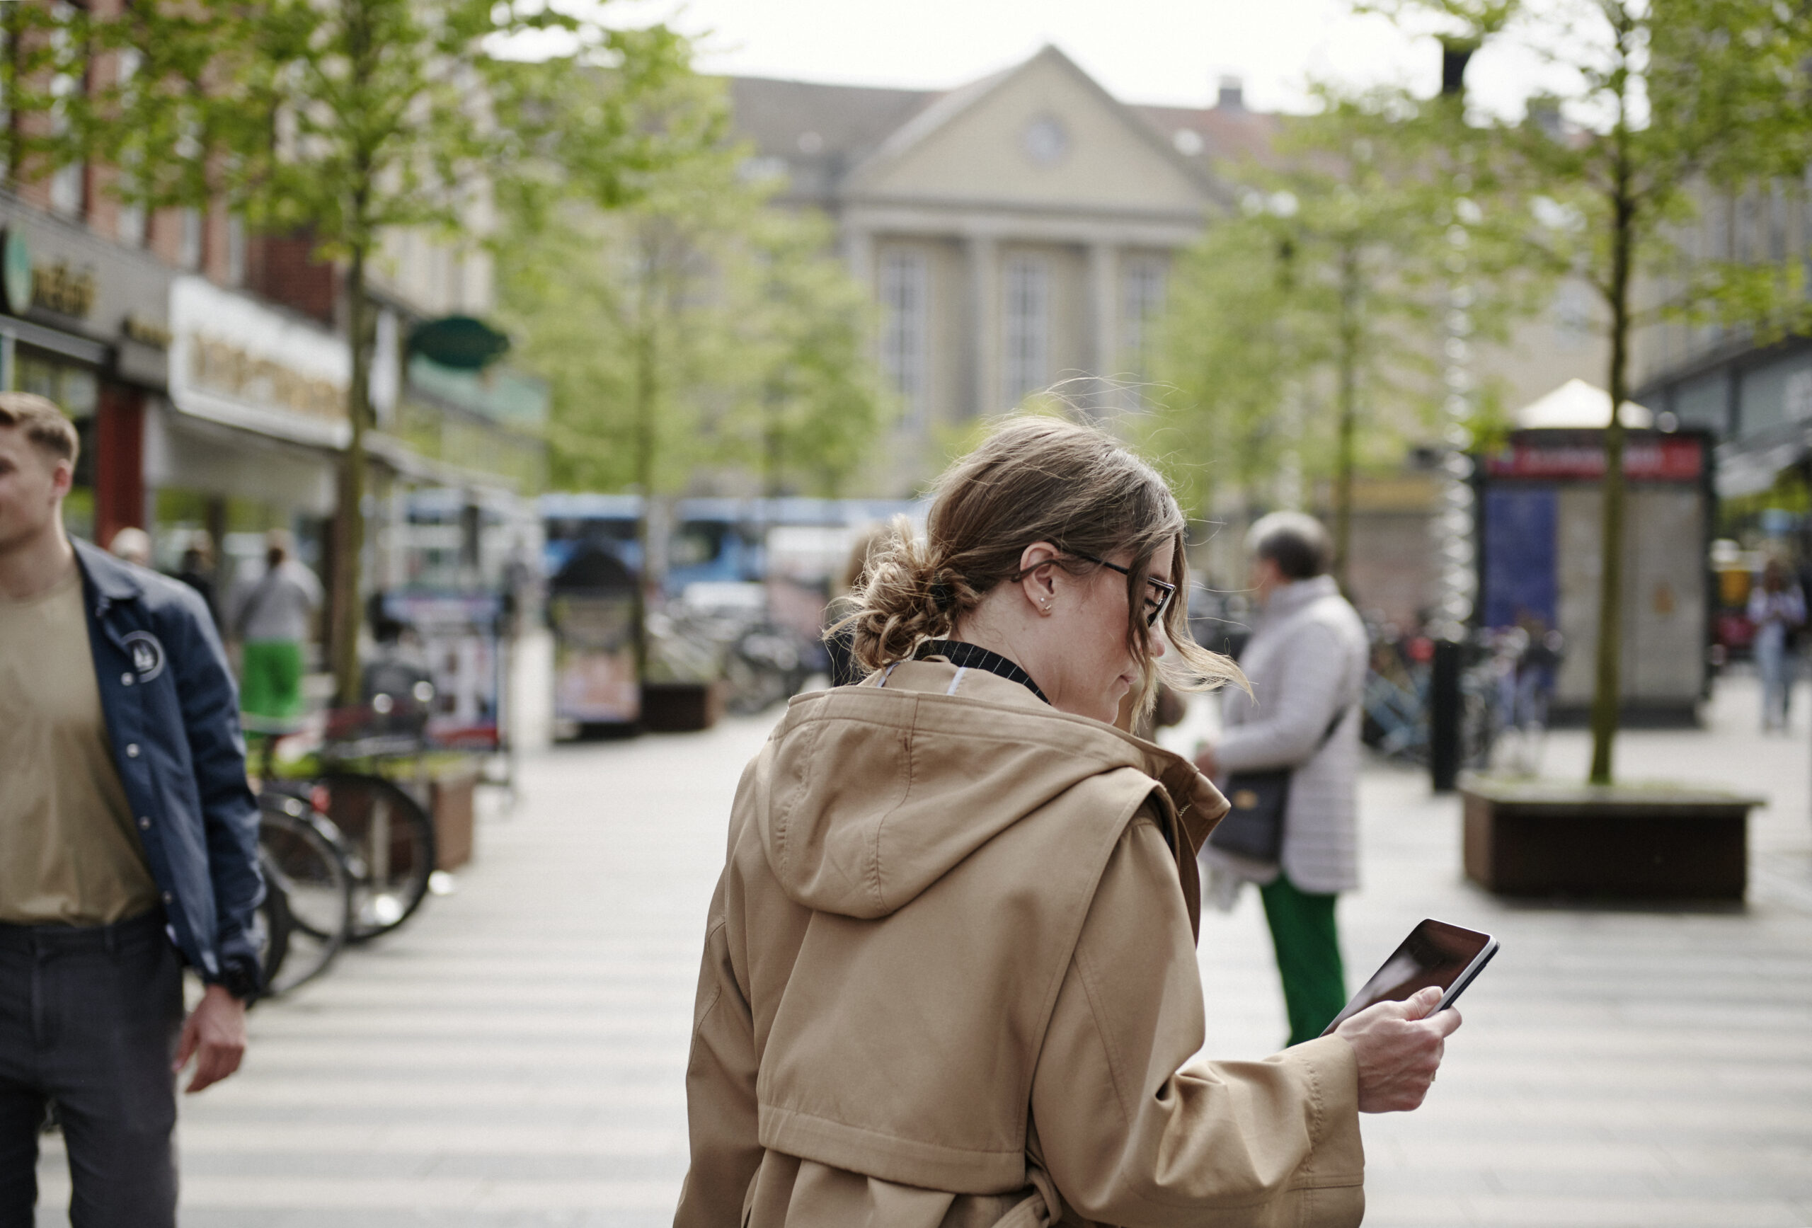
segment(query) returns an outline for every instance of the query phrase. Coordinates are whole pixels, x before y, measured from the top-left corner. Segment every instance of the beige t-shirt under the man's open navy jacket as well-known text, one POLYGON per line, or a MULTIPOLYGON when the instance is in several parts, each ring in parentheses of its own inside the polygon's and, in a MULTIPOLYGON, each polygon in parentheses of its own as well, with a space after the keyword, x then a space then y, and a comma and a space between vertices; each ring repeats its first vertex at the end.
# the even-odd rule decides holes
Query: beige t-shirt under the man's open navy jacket
POLYGON ((42 596, 0 600, 0 922, 105 926, 156 902, 71 565, 42 596))

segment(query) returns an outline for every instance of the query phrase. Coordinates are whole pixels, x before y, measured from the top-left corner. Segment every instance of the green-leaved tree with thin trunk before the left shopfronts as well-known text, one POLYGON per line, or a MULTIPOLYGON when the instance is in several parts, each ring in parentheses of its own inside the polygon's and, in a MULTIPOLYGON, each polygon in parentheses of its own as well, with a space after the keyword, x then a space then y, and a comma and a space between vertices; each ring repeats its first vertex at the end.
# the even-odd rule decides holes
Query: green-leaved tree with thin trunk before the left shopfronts
MULTIPOLYGON (((78 45, 130 72, 91 80, 71 125, 83 154, 129 168, 118 192, 147 208, 225 205, 263 232, 306 234, 344 268, 352 348, 335 551, 333 674, 359 696, 359 560, 375 313, 366 295, 386 234, 466 235, 498 181, 549 156, 583 159, 632 192, 658 143, 623 118, 636 87, 676 67, 663 33, 607 31, 547 5, 493 0, 136 0, 71 16, 78 45), (538 74, 500 53, 556 45, 538 74), (625 85, 571 123, 562 87, 582 65, 625 85)), ((101 63, 105 60, 98 60, 101 63)), ((506 183, 506 188, 509 185, 506 183)), ((529 196, 527 188, 518 190, 529 196)))

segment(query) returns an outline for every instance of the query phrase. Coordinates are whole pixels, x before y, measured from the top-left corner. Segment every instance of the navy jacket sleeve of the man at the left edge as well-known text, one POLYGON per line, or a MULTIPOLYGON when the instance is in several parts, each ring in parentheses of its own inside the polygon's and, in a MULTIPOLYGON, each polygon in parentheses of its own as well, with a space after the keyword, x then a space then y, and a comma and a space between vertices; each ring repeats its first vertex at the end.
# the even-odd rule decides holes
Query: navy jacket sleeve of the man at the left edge
POLYGON ((194 764, 196 793, 214 884, 216 951, 219 974, 208 980, 232 989, 259 983, 252 926, 265 898, 257 868, 257 799, 245 779, 245 737, 239 734, 239 690, 214 619, 199 594, 183 589, 181 632, 172 656, 176 692, 183 705, 183 732, 194 764))

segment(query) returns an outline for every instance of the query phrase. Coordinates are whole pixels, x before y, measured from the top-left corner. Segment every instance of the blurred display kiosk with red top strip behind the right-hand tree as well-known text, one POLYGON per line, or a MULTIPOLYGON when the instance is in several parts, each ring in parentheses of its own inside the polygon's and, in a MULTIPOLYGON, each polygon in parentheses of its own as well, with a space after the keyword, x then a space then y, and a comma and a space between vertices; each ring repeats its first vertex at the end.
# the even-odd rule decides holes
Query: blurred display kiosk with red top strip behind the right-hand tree
MULTIPOLYGON (((1602 476, 1602 431, 1517 431, 1480 458, 1479 612, 1491 628, 1560 630, 1557 714, 1591 705, 1602 476)), ((1624 706, 1691 719, 1709 643, 1707 440, 1631 431, 1624 476, 1624 706)))

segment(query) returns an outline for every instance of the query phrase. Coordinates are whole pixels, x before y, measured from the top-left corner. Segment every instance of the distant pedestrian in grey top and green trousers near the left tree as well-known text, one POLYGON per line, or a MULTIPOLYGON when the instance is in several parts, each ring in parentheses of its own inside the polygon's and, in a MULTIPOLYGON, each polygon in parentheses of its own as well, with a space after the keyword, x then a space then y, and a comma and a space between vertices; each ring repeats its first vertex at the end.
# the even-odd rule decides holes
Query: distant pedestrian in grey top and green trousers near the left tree
POLYGON ((239 705, 246 715, 284 723, 303 714, 304 645, 321 581, 295 558, 288 529, 265 534, 265 571, 234 583, 228 621, 241 645, 239 705))

